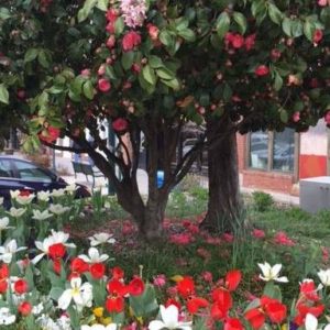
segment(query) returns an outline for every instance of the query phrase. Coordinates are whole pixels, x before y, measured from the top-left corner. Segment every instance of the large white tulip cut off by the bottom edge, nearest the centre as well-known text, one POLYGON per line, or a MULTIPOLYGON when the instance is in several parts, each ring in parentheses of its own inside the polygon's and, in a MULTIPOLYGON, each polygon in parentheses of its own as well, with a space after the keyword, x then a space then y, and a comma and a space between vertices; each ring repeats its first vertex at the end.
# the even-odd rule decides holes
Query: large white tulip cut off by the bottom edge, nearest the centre
POLYGON ((148 323, 147 329, 161 330, 161 329, 193 329, 193 322, 180 322, 178 320, 178 308, 174 305, 169 305, 167 308, 163 305, 160 306, 162 320, 154 320, 148 323))

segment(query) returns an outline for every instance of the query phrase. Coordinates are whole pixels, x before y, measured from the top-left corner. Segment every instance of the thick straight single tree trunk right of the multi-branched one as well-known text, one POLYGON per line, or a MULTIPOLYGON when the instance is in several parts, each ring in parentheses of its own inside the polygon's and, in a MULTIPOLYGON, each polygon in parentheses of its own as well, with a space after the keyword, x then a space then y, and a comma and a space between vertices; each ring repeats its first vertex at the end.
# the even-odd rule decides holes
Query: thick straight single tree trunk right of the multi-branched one
POLYGON ((209 202, 201 228, 208 231, 234 232, 240 220, 240 187, 237 136, 231 132, 230 119, 211 119, 207 122, 207 136, 220 142, 208 152, 209 202))

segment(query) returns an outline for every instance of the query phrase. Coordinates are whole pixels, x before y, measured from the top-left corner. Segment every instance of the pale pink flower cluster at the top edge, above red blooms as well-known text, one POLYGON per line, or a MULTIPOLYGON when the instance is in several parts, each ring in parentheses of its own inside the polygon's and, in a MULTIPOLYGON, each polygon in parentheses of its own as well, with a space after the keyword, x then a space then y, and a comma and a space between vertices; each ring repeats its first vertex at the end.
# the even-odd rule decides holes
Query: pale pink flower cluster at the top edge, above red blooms
POLYGON ((121 0, 122 18, 129 28, 142 26, 145 20, 145 0, 121 0))

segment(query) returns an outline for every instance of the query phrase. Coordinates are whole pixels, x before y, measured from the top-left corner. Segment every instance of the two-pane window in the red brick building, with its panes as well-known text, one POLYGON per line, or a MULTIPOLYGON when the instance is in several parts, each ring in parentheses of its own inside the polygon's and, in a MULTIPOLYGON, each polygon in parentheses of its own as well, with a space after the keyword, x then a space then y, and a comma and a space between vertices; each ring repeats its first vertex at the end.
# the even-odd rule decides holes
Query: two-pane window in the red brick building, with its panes
POLYGON ((249 166, 255 169, 287 172, 295 168, 295 131, 250 134, 249 166))

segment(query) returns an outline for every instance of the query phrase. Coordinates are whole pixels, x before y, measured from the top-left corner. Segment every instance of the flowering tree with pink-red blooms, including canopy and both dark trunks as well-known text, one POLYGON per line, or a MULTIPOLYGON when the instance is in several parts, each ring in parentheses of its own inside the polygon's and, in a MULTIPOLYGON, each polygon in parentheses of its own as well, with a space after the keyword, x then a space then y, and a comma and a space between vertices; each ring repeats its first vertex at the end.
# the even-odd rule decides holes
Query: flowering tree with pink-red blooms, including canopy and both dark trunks
POLYGON ((227 230, 240 205, 235 133, 330 121, 329 16, 323 0, 10 0, 0 8, 0 111, 20 119, 26 148, 76 142, 147 238, 160 235, 170 189, 207 145, 205 224, 221 215, 227 230), (105 120, 121 153, 100 138, 105 120), (206 121, 206 134, 173 168, 187 120, 206 121), (141 132, 146 204, 136 183, 141 132))

